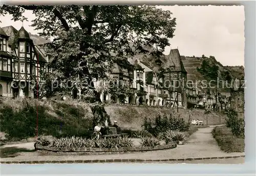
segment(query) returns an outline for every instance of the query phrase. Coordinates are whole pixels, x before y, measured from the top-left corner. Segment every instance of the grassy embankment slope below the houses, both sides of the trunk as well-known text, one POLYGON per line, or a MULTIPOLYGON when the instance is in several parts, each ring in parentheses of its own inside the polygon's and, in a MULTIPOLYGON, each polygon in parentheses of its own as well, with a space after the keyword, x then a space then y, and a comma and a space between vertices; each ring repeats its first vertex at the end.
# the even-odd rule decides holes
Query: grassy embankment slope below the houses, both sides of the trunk
MULTIPOLYGON (((111 121, 118 121, 121 128, 139 130, 144 118, 154 119, 158 112, 169 113, 169 108, 112 105, 105 107, 111 121)), ((176 109, 175 109, 176 110, 176 109)), ((188 120, 189 110, 179 109, 180 117, 188 120)), ((190 118, 206 122, 204 110, 190 111, 190 118)), ((13 140, 34 137, 38 123, 38 135, 87 136, 92 128, 93 114, 87 104, 73 101, 38 100, 0 97, 0 134, 9 134, 13 140), (38 114, 37 114, 38 112, 38 114), (38 115, 38 122, 37 122, 38 115)), ((225 116, 216 112, 208 114, 208 124, 224 123, 225 116)))

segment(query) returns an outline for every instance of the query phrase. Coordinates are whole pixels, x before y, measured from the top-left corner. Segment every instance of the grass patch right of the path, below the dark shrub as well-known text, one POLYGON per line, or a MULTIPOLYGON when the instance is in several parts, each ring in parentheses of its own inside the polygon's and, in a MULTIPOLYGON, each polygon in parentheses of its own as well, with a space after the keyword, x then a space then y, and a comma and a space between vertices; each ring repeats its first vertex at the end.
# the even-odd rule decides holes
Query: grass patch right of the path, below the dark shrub
POLYGON ((211 133, 224 152, 244 152, 244 139, 234 136, 229 128, 215 127, 211 133))

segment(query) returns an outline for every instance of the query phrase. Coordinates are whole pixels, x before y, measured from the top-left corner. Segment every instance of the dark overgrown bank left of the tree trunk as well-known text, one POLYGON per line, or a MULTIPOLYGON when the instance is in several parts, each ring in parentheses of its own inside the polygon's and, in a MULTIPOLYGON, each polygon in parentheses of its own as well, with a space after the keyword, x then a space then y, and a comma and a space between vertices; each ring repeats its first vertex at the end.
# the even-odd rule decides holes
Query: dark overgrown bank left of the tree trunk
POLYGON ((55 137, 88 136, 92 116, 81 105, 27 98, 4 99, 0 106, 0 129, 8 140, 22 140, 36 135, 55 137), (37 112, 38 111, 38 112, 37 112))

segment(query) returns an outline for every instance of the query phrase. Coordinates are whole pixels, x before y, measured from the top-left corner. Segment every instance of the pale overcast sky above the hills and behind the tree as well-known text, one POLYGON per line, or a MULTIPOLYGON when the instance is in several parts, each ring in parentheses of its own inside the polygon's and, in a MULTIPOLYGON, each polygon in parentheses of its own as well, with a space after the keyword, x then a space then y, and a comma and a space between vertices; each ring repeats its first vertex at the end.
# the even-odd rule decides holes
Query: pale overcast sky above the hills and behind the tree
MULTIPOLYGON (((173 12, 176 17, 174 38, 170 47, 179 48, 184 56, 215 56, 224 66, 244 65, 244 7, 243 6, 159 6, 173 12)), ((34 19, 31 11, 26 11, 29 21, 24 28, 36 34, 29 25, 34 19)), ((19 30, 22 22, 11 21, 11 16, 1 16, 1 27, 12 25, 19 30)))

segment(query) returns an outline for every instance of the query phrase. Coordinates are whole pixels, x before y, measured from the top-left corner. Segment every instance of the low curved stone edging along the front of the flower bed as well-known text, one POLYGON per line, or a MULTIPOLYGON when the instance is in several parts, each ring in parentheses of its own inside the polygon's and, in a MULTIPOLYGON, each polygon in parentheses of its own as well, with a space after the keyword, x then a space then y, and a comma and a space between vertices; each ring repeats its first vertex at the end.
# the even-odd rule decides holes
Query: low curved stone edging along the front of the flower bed
POLYGON ((136 153, 147 152, 152 150, 162 150, 177 147, 177 143, 171 143, 167 145, 157 145, 155 147, 121 147, 121 148, 56 148, 49 146, 41 146, 35 144, 36 150, 46 150, 50 152, 80 152, 89 154, 112 154, 112 153, 136 153))

